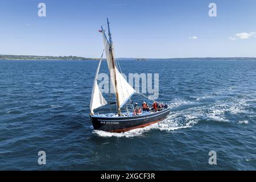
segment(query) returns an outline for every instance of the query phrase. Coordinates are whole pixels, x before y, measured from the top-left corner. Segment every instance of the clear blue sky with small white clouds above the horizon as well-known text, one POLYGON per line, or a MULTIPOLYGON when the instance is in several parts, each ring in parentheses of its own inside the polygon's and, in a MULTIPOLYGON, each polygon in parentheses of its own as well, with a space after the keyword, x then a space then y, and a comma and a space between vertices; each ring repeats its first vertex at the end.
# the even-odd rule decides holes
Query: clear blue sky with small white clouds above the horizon
POLYGON ((256 57, 255 0, 0 0, 0 54, 100 57, 106 17, 116 57, 256 57))

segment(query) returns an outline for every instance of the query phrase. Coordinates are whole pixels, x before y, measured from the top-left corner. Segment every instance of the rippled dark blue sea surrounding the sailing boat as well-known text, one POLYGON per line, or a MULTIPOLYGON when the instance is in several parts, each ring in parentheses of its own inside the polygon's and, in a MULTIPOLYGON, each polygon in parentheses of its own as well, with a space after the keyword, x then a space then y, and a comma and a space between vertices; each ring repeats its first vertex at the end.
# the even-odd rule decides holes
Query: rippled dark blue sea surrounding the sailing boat
POLYGON ((123 73, 159 73, 166 119, 120 134, 93 131, 98 61, 0 61, 0 169, 256 170, 256 61, 119 63, 123 73))

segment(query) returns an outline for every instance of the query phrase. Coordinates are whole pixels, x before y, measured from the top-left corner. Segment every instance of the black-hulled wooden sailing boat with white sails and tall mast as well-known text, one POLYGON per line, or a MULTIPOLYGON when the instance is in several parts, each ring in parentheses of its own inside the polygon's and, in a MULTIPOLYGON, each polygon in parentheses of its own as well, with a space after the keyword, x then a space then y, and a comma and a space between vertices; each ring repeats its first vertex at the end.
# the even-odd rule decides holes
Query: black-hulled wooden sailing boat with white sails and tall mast
MULTIPOLYGON (((90 101, 90 119, 93 124, 94 130, 103 130, 109 132, 121 133, 136 129, 139 127, 145 127, 161 121, 170 114, 170 107, 162 107, 156 110, 142 111, 141 113, 136 113, 134 107, 132 106, 132 111, 130 112, 127 107, 126 111, 121 111, 122 107, 126 105, 126 102, 131 101, 131 96, 136 93, 133 87, 125 80, 117 68, 117 64, 114 59, 114 50, 112 36, 110 33, 109 19, 108 23, 108 38, 105 34, 104 28, 101 26, 101 34, 103 37, 104 51, 106 54, 106 61, 108 63, 110 82, 113 85, 115 93, 116 112, 115 113, 94 113, 94 109, 98 107, 107 105, 108 102, 102 96, 100 89, 97 84, 98 73, 100 72, 102 52, 100 63, 98 63, 96 76, 94 78, 94 85, 92 90, 92 97, 90 101)), ((143 95, 144 96, 144 95, 143 95)), ((113 103, 109 103, 113 104, 113 103)), ((130 102, 133 104, 133 102, 130 102)))

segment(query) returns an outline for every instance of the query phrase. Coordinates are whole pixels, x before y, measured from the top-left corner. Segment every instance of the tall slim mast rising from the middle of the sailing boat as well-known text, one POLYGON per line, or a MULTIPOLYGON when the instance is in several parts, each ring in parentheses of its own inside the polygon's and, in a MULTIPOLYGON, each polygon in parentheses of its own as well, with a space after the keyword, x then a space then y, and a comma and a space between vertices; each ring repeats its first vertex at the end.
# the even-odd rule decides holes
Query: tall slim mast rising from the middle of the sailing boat
POLYGON ((108 21, 108 31, 109 31, 109 44, 110 44, 109 52, 111 54, 111 59, 112 59, 111 61, 112 61, 112 64, 113 64, 114 77, 115 77, 115 96, 117 97, 118 114, 121 114, 121 105, 120 105, 119 96, 118 96, 117 76, 116 76, 116 72, 115 72, 116 67, 115 67, 113 47, 112 47, 113 42, 112 42, 110 27, 109 27, 109 18, 107 18, 107 21, 108 21))

